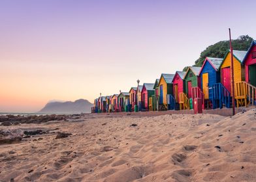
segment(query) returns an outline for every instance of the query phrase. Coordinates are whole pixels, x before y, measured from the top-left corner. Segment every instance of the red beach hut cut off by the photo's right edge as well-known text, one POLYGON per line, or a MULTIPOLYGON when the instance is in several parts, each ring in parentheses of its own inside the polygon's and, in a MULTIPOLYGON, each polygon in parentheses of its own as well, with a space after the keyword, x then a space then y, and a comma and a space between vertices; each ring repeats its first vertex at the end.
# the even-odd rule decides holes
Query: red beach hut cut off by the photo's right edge
MULTIPOLYGON (((244 57, 242 63, 245 66, 246 83, 244 83, 247 103, 256 105, 256 41, 251 42, 251 46, 244 57)), ((247 104, 246 104, 247 106, 247 104)))

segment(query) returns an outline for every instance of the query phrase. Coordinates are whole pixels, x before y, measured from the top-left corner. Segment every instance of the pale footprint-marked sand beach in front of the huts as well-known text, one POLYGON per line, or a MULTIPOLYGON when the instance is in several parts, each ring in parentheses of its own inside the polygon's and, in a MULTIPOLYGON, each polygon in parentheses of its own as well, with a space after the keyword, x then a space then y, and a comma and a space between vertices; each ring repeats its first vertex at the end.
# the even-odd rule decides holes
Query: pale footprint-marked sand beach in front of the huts
POLYGON ((255 109, 11 126, 22 127, 72 135, 1 145, 0 181, 256 181, 255 109))

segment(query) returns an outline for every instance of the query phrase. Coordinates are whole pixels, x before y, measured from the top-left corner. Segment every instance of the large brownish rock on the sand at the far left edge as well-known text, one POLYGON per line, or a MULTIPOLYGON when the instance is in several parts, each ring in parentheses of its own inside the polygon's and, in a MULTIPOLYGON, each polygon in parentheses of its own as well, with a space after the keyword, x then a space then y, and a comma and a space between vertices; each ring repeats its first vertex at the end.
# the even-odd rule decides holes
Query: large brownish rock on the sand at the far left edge
POLYGON ((0 144, 12 144, 22 140, 23 131, 21 129, 0 130, 0 144))

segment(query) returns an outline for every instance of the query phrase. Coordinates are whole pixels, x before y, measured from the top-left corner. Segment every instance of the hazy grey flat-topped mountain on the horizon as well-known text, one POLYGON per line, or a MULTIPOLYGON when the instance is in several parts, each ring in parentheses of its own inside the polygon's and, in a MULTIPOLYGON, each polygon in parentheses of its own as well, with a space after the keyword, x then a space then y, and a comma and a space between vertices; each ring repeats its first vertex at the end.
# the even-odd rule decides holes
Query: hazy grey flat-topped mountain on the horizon
POLYGON ((72 101, 50 101, 38 113, 44 114, 80 114, 90 113, 93 104, 86 99, 72 101))

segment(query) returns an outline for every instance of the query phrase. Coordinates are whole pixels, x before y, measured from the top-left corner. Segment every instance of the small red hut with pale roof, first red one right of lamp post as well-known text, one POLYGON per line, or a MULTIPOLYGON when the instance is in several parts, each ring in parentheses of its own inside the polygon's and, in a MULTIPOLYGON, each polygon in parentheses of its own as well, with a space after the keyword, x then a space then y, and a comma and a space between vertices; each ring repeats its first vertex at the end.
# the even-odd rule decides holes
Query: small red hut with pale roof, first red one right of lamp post
POLYGON ((148 110, 149 109, 149 99, 152 97, 153 94, 155 94, 155 90, 153 89, 154 83, 144 83, 142 86, 142 92, 141 92, 141 107, 142 110, 148 110))

